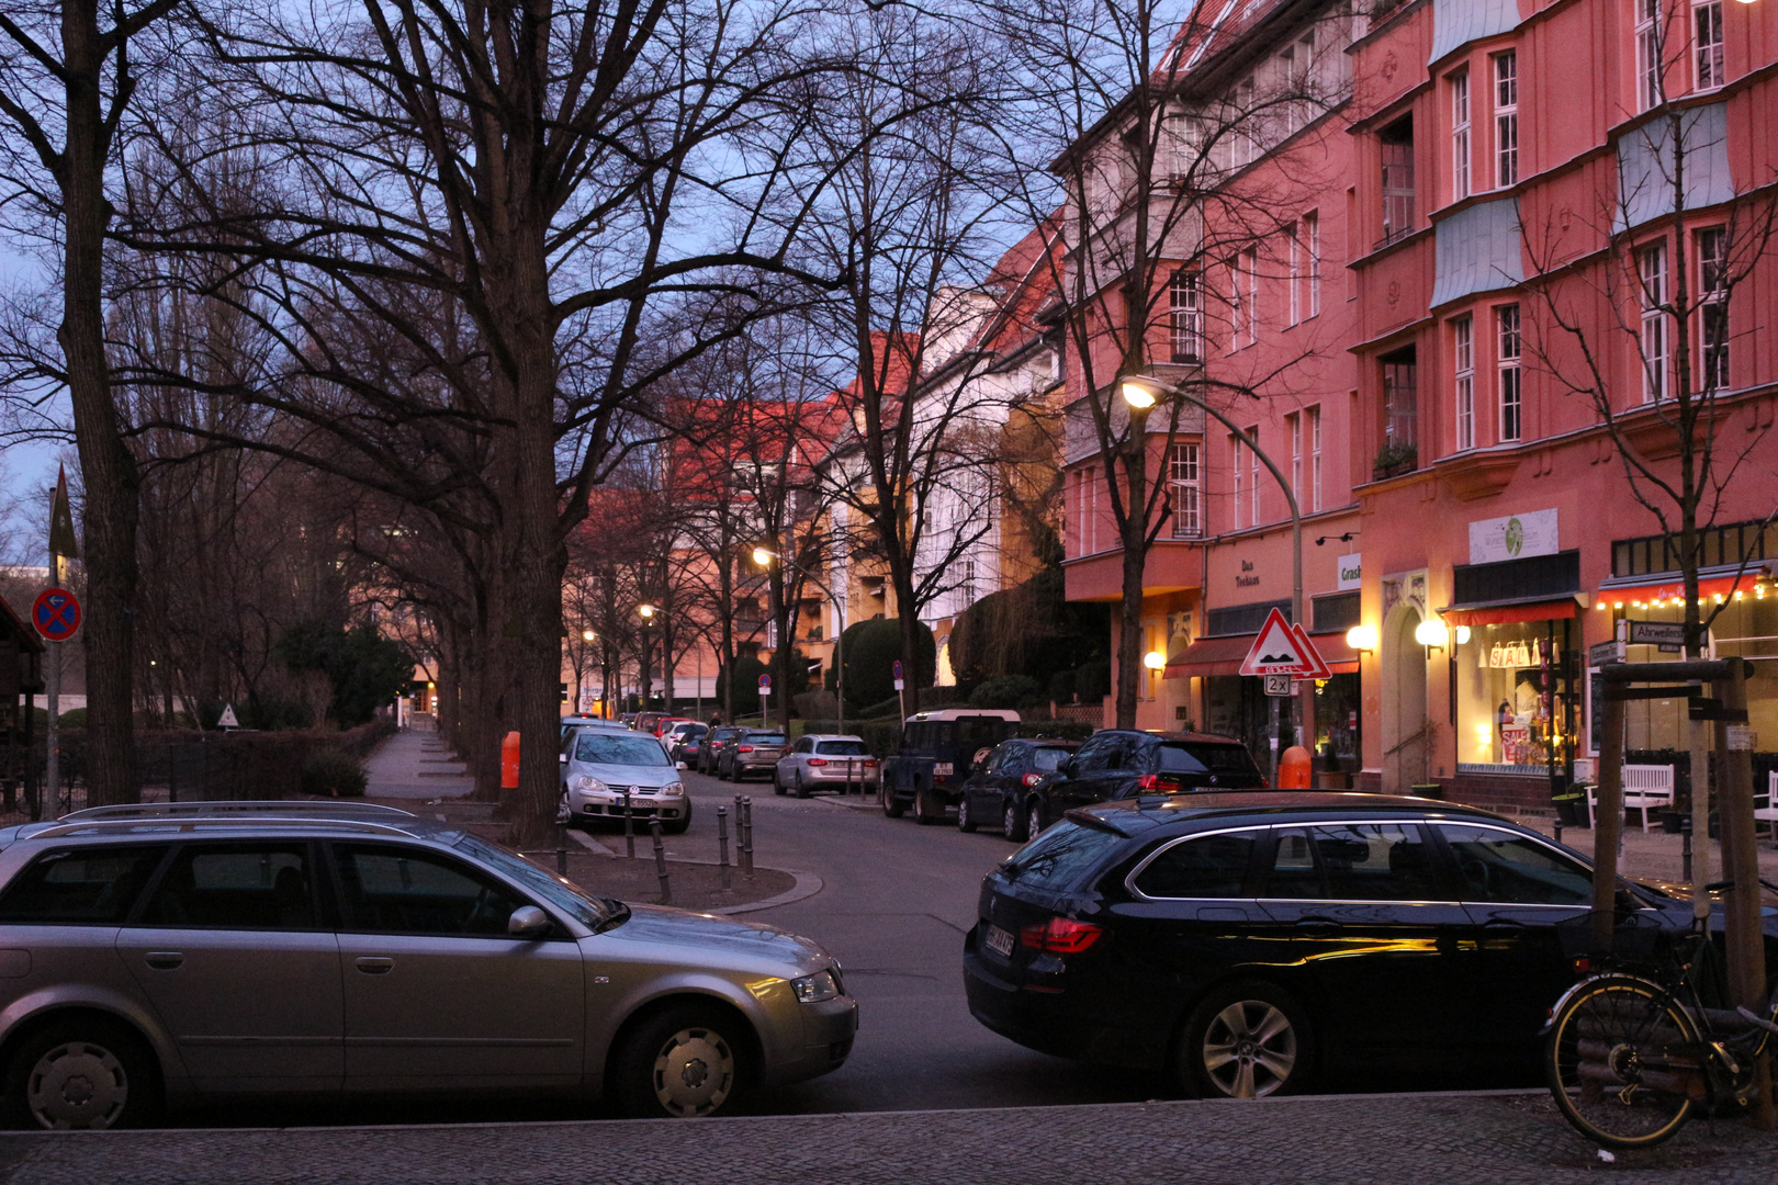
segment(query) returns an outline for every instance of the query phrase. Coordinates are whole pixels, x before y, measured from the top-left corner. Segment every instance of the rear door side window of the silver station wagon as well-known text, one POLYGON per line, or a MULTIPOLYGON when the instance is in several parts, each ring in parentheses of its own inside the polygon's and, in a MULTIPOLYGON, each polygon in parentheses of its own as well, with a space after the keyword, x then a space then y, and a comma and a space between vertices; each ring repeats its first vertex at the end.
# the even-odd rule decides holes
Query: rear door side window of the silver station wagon
MULTIPOLYGON (((660 746, 656 746, 660 748, 660 746)), ((142 908, 140 926, 315 929, 309 846, 194 844, 180 851, 142 908)))

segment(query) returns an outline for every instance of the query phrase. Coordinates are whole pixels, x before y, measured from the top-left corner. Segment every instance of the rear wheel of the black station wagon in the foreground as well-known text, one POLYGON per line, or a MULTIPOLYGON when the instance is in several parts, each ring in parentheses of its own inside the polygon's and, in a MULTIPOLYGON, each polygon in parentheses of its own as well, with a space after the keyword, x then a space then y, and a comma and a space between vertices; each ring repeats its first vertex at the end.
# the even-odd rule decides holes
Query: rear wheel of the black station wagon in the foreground
POLYGON ((1175 1066, 1191 1096, 1264 1098, 1303 1091, 1312 1055, 1294 997, 1268 982, 1234 982, 1191 1009, 1175 1066))

